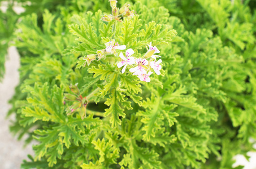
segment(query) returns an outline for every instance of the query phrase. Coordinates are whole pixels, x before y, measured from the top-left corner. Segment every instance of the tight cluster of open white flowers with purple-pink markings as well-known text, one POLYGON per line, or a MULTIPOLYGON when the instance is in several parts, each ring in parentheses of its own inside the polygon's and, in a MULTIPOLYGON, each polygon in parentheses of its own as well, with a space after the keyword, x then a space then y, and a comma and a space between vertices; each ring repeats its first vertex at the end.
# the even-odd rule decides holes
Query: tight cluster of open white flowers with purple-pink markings
MULTIPOLYGON (((140 78, 141 81, 150 82, 150 75, 153 73, 151 70, 153 69, 154 72, 159 75, 160 70, 162 69, 162 66, 160 63, 162 63, 162 60, 159 59, 157 61, 157 57, 161 57, 159 55, 154 55, 159 53, 157 47, 152 46, 151 42, 148 45, 149 49, 147 49, 146 54, 142 58, 136 59, 132 55, 134 54, 134 51, 129 48, 125 52, 125 56, 121 52, 119 57, 122 59, 118 64, 118 68, 121 68, 122 66, 122 73, 125 72, 125 69, 127 68, 127 65, 131 65, 132 68, 129 69, 130 72, 133 73, 133 75, 137 75, 138 78, 140 78), (149 61, 147 59, 151 58, 149 61)), ((122 48, 123 49, 123 48, 122 48)))

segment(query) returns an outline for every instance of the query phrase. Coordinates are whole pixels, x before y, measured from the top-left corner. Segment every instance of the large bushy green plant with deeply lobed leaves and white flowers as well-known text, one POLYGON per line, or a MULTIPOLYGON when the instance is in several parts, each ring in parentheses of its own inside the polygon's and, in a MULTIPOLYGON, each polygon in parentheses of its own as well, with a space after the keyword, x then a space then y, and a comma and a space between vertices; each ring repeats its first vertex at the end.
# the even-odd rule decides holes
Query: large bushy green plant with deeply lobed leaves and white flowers
POLYGON ((37 140, 21 167, 231 168, 252 149, 248 1, 86 3, 18 24, 11 130, 37 140))

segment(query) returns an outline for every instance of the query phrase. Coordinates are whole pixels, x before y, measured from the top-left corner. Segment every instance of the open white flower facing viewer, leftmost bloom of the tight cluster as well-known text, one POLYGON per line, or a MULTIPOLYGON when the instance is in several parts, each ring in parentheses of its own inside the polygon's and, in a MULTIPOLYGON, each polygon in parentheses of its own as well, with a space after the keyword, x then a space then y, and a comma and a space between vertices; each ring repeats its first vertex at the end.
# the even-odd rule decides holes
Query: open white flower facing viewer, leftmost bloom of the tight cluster
POLYGON ((133 54, 134 54, 134 51, 131 48, 129 48, 125 52, 126 57, 124 57, 122 52, 120 53, 119 57, 121 57, 122 61, 120 63, 118 63, 118 68, 121 68, 122 66, 124 66, 124 68, 122 69, 122 73, 124 73, 127 65, 132 65, 132 64, 135 63, 134 62, 134 60, 135 60, 134 57, 131 56, 133 54), (131 56, 131 57, 128 57, 128 56, 131 56))

